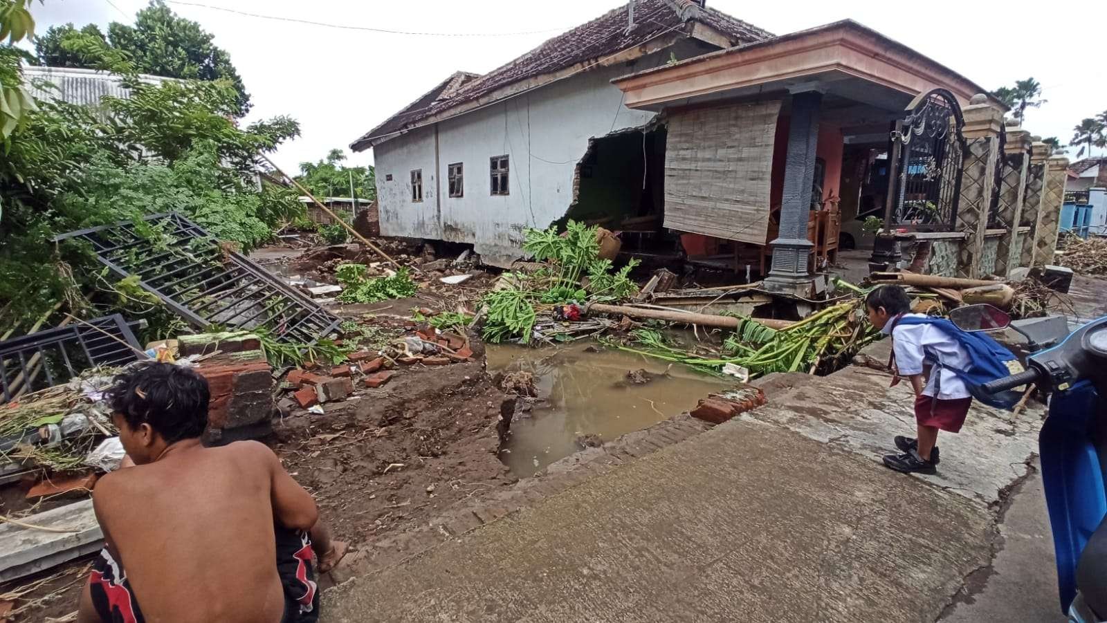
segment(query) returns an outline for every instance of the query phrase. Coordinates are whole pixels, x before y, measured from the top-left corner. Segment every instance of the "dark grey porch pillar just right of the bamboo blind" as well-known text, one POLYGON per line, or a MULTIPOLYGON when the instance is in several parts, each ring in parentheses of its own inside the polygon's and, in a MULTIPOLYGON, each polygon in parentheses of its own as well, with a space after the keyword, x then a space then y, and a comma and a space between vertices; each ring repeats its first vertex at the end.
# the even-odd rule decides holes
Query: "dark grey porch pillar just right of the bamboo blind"
POLYGON ((769 242, 773 246, 773 267, 764 281, 765 289, 774 292, 807 295, 815 282, 807 268, 811 247, 815 246, 807 238, 807 221, 810 218, 821 107, 823 91, 817 86, 807 84, 793 90, 780 231, 776 240, 769 242))

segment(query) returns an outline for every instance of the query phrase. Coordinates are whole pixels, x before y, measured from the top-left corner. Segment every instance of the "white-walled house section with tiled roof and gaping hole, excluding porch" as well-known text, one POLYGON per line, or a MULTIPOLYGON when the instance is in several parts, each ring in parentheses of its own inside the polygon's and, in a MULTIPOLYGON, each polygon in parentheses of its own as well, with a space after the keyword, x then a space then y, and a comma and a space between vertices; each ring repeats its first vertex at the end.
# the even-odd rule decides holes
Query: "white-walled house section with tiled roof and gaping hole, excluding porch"
POLYGON ((631 2, 485 75, 456 72, 354 141, 373 149, 381 232, 506 264, 526 227, 570 206, 594 220, 659 211, 664 129, 611 80, 770 37, 702 4, 631 2))

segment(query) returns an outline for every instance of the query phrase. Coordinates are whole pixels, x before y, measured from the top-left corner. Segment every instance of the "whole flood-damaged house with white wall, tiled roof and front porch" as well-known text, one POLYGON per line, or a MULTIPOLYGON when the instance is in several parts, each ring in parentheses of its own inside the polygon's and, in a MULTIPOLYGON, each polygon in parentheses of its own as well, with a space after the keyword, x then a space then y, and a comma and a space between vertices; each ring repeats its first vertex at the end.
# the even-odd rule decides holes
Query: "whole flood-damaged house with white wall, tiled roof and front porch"
MULTIPOLYGON (((1005 107, 983 93, 853 21, 776 37, 702 1, 637 0, 488 74, 453 74, 352 147, 374 149, 384 236, 509 266, 525 228, 571 218, 662 266, 806 292, 840 246, 872 245, 870 217, 934 240, 925 269, 949 274, 958 258, 1005 273, 1008 249, 1048 233, 1036 206, 1006 214, 995 194, 977 216, 963 200, 977 191, 961 184, 966 136, 1004 133, 1005 107)), ((1015 134, 991 170, 1021 186, 1030 137, 1015 134)))

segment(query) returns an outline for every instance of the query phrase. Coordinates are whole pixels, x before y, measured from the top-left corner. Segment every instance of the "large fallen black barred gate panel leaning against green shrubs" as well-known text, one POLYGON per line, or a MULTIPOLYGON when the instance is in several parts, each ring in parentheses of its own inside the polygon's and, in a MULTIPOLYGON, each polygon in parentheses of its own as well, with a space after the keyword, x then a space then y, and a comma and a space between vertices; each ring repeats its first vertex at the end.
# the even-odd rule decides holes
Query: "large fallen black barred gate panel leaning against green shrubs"
POLYGON ((121 279, 136 279, 199 330, 263 328, 279 341, 311 344, 339 325, 311 299, 176 212, 54 238, 68 239, 90 245, 121 279))

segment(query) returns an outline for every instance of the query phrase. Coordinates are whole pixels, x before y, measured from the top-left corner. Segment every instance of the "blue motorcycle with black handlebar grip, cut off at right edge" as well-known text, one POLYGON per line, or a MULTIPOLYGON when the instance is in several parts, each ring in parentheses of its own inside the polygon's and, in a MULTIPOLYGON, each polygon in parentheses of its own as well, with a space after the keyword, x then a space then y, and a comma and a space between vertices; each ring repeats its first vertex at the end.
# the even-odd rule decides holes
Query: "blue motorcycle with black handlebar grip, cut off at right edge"
MULTIPOLYGON (((970 332, 1011 326, 1005 312, 987 304, 959 308, 950 320, 970 332)), ((1061 609, 1070 623, 1107 623, 1107 316, 1031 353, 1025 372, 982 390, 1030 383, 1049 395, 1038 453, 1061 609)))

